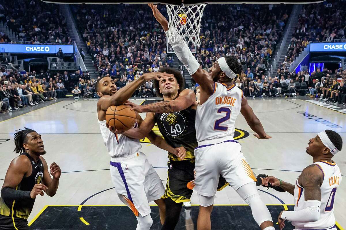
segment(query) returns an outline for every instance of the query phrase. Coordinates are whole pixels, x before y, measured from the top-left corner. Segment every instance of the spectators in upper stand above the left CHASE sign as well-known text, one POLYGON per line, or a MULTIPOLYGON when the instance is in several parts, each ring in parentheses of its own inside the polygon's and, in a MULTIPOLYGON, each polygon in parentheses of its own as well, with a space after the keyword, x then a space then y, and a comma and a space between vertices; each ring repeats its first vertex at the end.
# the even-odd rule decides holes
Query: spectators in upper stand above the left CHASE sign
MULTIPOLYGON (((10 4, 0 4, 0 21, 24 41, 33 44, 73 42, 67 32, 66 19, 56 4, 40 0, 12 0, 10 4)), ((0 42, 10 43, 11 40, 1 34, 0 42)))

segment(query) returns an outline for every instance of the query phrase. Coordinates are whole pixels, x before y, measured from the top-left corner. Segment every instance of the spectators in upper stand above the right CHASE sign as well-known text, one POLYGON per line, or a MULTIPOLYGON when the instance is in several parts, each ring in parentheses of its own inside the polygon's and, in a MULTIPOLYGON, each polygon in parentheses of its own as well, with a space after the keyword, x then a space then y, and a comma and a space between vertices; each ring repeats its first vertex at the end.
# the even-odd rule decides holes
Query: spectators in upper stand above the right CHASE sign
POLYGON ((346 1, 343 0, 303 4, 287 54, 279 67, 289 68, 310 42, 345 39, 345 7, 346 1))

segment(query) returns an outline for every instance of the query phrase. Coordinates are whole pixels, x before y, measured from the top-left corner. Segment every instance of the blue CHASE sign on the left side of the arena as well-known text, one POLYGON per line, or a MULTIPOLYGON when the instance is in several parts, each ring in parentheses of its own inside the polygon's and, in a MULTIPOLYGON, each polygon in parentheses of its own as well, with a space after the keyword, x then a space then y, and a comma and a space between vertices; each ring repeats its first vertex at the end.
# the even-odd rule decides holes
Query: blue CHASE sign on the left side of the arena
POLYGON ((72 45, 26 45, 26 44, 0 44, 0 53, 57 53, 59 48, 64 53, 73 53, 72 45))

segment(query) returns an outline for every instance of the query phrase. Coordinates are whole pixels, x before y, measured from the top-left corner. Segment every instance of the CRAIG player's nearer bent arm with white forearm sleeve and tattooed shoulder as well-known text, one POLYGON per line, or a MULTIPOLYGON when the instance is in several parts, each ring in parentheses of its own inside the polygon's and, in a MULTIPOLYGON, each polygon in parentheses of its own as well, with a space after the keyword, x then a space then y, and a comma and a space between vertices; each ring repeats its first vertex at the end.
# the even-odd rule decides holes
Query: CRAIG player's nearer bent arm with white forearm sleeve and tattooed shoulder
POLYGON ((279 220, 302 223, 317 221, 320 217, 322 182, 323 174, 316 164, 306 167, 298 179, 298 183, 304 188, 306 208, 299 211, 282 211, 279 220))

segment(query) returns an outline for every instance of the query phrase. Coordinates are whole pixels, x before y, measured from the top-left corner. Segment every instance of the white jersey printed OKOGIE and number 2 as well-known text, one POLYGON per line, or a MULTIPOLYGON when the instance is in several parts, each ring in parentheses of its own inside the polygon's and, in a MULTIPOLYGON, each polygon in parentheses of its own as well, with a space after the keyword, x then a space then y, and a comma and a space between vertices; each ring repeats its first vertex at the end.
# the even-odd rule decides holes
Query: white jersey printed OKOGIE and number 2
MULTIPOLYGON (((233 139, 237 116, 242 108, 243 90, 235 85, 215 82, 214 93, 202 105, 197 106, 197 141, 216 138, 233 139)), ((204 142, 203 142, 204 143, 204 142)))

